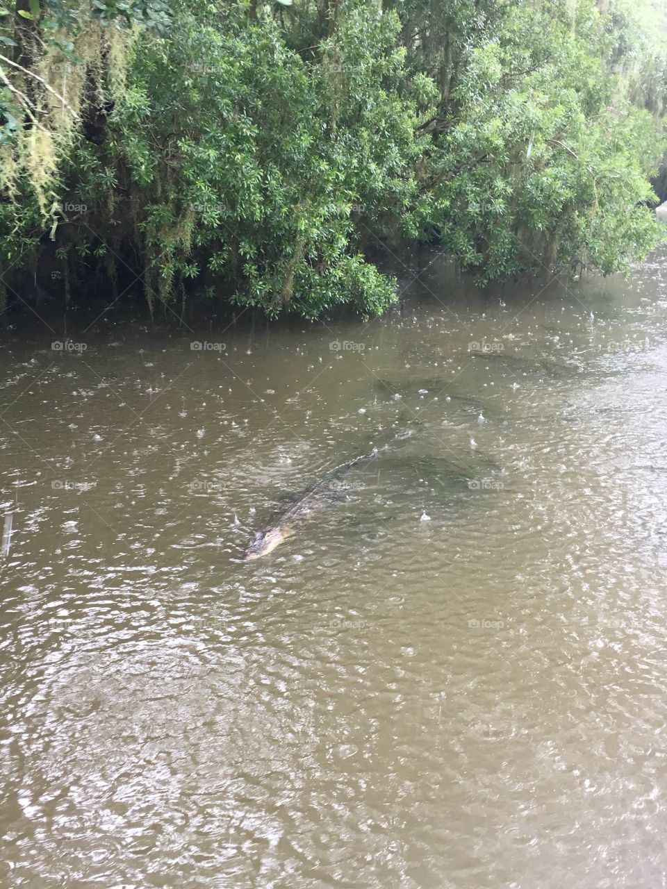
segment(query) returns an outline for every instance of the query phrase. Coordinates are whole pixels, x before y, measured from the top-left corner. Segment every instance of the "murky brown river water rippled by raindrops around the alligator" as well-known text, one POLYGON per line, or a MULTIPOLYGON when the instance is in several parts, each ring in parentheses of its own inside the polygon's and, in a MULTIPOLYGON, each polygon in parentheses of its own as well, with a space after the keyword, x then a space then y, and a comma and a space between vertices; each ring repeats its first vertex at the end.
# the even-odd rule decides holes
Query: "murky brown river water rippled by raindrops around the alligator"
POLYGON ((0 885, 667 885, 667 255, 398 274, 368 324, 5 335, 0 885))

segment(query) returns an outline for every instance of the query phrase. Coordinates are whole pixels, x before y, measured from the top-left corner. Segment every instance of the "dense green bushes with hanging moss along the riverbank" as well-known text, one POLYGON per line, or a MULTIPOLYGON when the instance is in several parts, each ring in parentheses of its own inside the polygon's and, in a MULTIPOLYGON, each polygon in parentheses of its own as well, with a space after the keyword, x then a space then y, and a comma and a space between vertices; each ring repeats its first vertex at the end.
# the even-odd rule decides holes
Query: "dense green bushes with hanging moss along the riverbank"
POLYGON ((625 270, 666 33, 650 0, 0 5, 0 301, 371 314, 403 239, 482 283, 625 270))

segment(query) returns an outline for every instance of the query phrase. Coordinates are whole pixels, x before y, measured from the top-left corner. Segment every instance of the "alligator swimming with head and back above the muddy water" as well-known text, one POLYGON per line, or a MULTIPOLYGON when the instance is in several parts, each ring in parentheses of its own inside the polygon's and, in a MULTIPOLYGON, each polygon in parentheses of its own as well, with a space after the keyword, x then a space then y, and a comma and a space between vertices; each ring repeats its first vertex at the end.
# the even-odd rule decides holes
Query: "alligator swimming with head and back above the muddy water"
POLYGON ((378 449, 374 448, 370 453, 362 454, 360 457, 355 457, 354 460, 342 463, 341 466, 330 469, 324 476, 318 478, 317 482, 301 492, 296 501, 278 512, 267 528, 255 534, 253 541, 245 549, 243 557, 248 560, 267 556, 280 543, 288 537, 292 537, 301 522, 308 521, 317 512, 317 509, 341 497, 344 492, 344 484, 338 479, 342 475, 353 466, 358 466, 359 463, 373 460, 377 453, 378 449))

